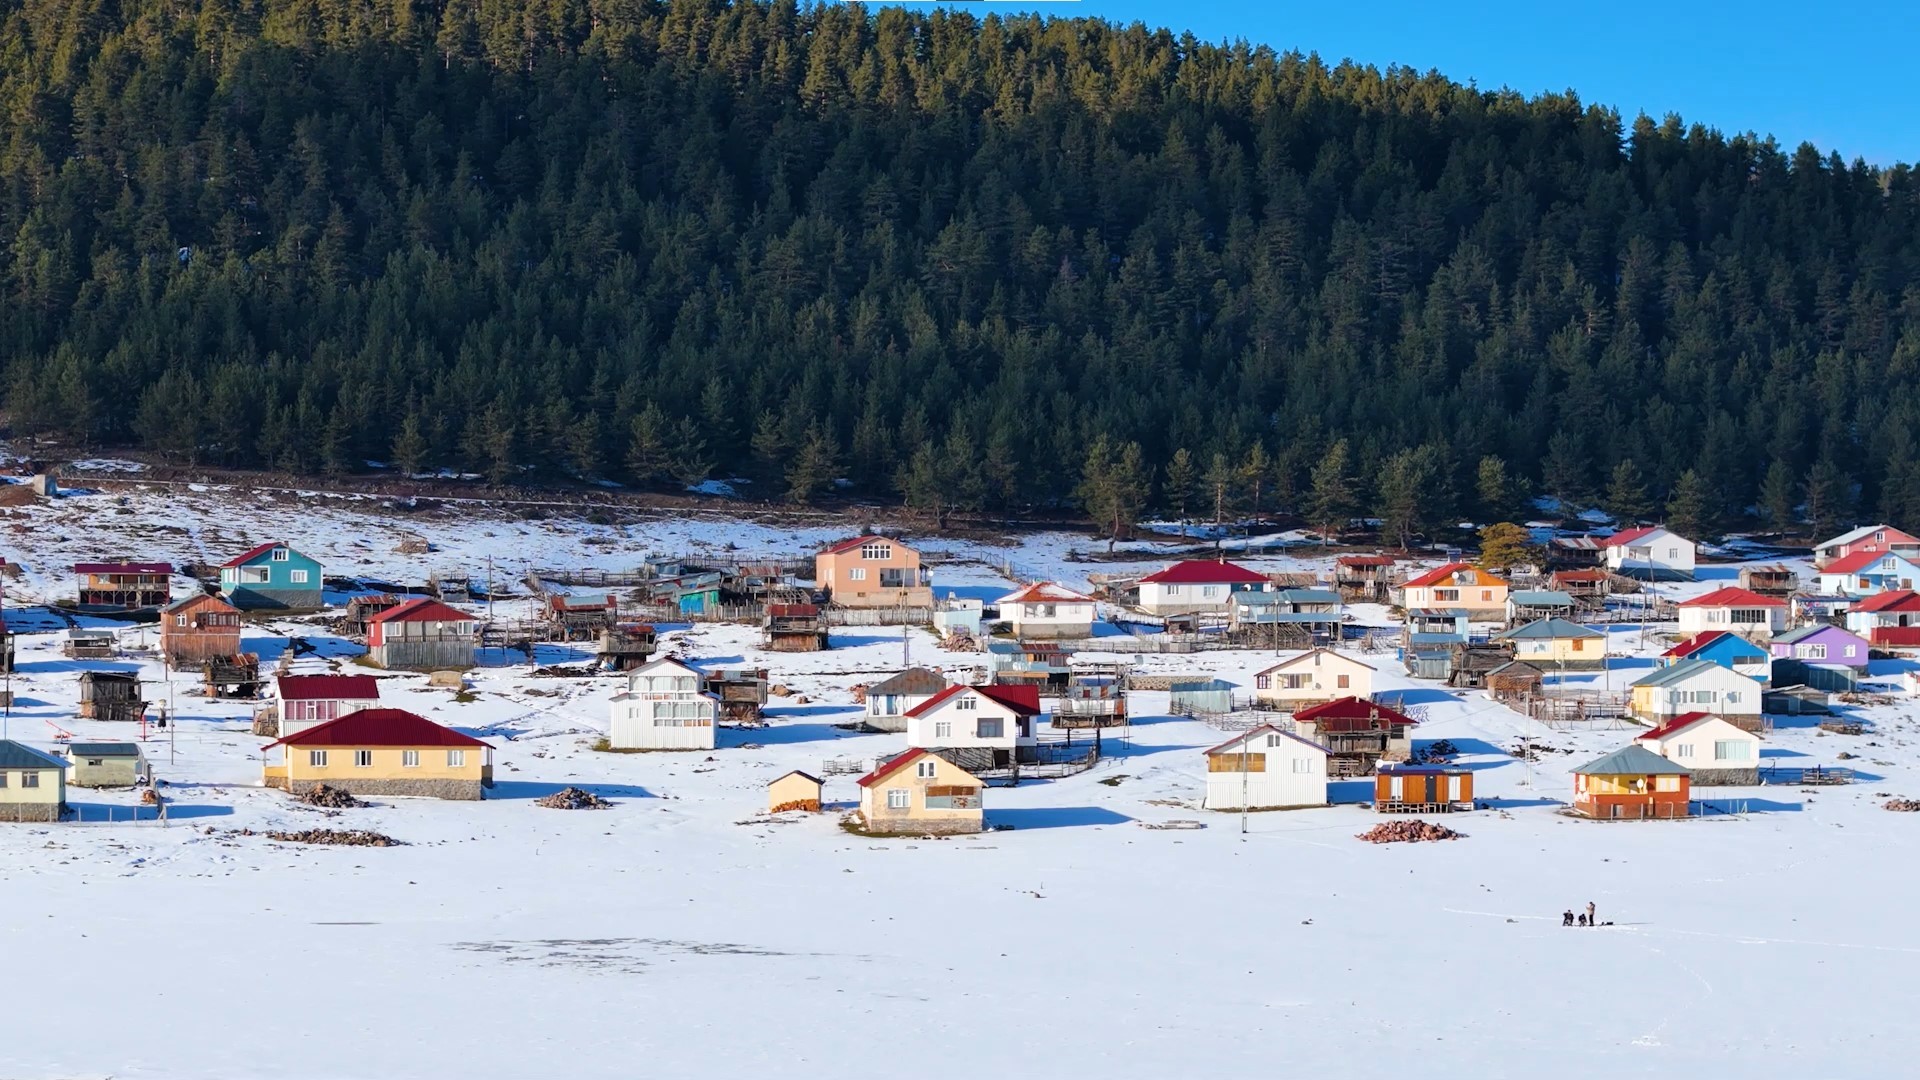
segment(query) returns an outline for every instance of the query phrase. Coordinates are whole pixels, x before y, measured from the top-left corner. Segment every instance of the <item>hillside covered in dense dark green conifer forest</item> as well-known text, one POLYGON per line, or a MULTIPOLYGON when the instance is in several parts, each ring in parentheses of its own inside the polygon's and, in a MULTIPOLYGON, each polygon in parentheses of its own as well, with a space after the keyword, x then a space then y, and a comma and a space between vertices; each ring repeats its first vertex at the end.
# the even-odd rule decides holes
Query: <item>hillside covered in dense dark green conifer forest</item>
POLYGON ((0 12, 17 432, 1104 519, 1920 521, 1905 167, 1087 19, 0 12))

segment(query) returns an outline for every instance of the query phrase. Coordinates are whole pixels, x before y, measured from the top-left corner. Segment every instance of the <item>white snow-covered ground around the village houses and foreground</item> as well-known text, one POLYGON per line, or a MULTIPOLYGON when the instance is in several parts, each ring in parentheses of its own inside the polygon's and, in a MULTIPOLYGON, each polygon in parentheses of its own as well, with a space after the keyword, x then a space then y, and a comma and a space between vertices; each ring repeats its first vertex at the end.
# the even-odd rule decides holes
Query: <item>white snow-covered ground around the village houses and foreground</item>
MULTIPOLYGON (((79 496, 0 521, 0 555, 27 565, 10 611, 67 594, 79 557, 219 561, 271 538, 328 575, 415 582, 488 557, 516 577, 701 544, 804 552, 847 532, 482 507, 396 517, 372 500, 225 492, 79 496), (442 550, 397 555, 399 530, 442 550)), ((1068 584, 1116 569, 1066 561, 1087 542, 1058 534, 935 546, 977 559, 939 571, 941 588, 977 596, 1008 588, 996 559, 1068 584)), ((1252 563, 1325 565, 1311 552, 1252 563)), ((290 636, 317 648, 296 671, 357 651, 298 621, 252 630, 248 648, 273 663, 290 636)), ((1920 955, 1920 815, 1878 807, 1920 794, 1905 694, 1862 711, 1866 736, 1784 719, 1766 740, 1784 765, 1851 751, 1862 784, 1713 790, 1745 813, 1597 824, 1555 813, 1569 769, 1630 732, 1548 730, 1373 655, 1380 692, 1423 709, 1417 736, 1461 748, 1494 803, 1448 822, 1465 840, 1361 844, 1379 819, 1354 805, 1250 815, 1242 834, 1238 815, 1198 809, 1198 751, 1225 736, 1167 717, 1165 694, 1133 696, 1133 728, 1094 771, 993 788, 989 821, 1012 830, 866 840, 833 813, 764 815, 764 784, 789 769, 900 748, 833 726, 856 713, 852 684, 900 667, 900 632, 849 628, 833 646, 764 655, 749 628, 674 630, 670 650, 764 663, 808 698, 776 701, 770 728, 724 730, 710 755, 589 749, 616 676, 536 676, 511 653, 488 657, 470 700, 382 676, 388 701, 490 740, 499 786, 482 803, 388 799, 338 817, 259 788, 267 740, 248 734, 250 707, 204 701, 179 676, 179 723, 148 744, 173 799, 165 824, 127 821, 131 794, 75 790, 79 824, 0 826, 0 1076, 1799 1078, 1893 1074, 1920 1053, 1903 990, 1920 955), (1521 738, 1559 751, 1528 765, 1507 753, 1521 738), (534 805, 566 784, 614 805, 534 805), (1204 828, 1148 828, 1173 821, 1204 828), (321 824, 405 846, 257 836, 321 824), (1615 924, 1561 928, 1586 901, 1615 924)), ((1620 630, 1613 646, 1640 653, 1609 676, 1622 684, 1663 642, 1620 630)), ((914 663, 977 661, 920 630, 910 650, 914 663)), ((1250 686, 1269 663, 1219 651, 1142 669, 1250 686)), ((12 738, 129 736, 71 719, 77 667, 58 634, 21 638, 12 738)), ((138 657, 115 667, 163 678, 138 657)), ((828 798, 851 801, 852 778, 829 778, 828 798)), ((1365 796, 1338 784, 1336 798, 1365 796)))

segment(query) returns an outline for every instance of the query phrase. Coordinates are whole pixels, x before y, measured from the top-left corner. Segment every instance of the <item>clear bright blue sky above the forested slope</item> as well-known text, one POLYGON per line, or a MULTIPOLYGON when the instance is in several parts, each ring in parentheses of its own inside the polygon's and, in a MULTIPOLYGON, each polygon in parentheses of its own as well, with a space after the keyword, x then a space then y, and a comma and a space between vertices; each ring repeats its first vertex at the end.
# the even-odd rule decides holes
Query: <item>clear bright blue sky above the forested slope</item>
MULTIPOLYGON (((925 8, 929 4, 910 4, 925 8)), ((1680 113, 1720 131, 1812 142, 1849 161, 1920 161, 1920 0, 1064 0, 962 2, 972 12, 1098 15, 1244 37, 1384 67, 1438 67, 1482 88, 1576 90, 1622 115, 1680 113)))

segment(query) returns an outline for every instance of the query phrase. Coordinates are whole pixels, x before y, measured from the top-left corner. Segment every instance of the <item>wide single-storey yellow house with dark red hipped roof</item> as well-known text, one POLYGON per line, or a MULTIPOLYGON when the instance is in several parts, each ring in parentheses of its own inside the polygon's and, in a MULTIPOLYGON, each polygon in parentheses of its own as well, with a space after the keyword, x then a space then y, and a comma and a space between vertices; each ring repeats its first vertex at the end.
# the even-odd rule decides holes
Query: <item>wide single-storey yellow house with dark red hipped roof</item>
POLYGON ((265 784, 284 792, 480 799, 493 786, 492 746, 401 709, 359 709, 261 751, 265 784))

